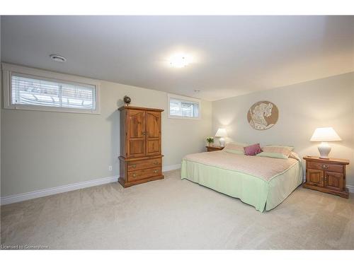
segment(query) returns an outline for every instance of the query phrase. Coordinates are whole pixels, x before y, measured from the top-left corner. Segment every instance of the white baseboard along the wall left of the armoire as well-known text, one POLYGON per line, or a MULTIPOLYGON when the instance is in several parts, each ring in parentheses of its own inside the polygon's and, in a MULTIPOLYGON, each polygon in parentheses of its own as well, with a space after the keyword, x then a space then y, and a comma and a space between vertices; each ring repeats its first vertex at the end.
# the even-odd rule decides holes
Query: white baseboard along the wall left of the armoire
POLYGON ((35 199, 39 197, 49 196, 53 194, 58 194, 62 192, 70 192, 76 189, 84 189, 88 187, 98 186, 102 184, 107 184, 110 182, 118 182, 118 176, 113 177, 103 177, 101 179, 93 179, 86 182, 79 182, 74 184, 63 185, 59 187, 41 189, 35 192, 26 192, 23 194, 15 194, 10 196, 1 197, 0 205, 13 204, 18 201, 27 201, 30 199, 35 199))

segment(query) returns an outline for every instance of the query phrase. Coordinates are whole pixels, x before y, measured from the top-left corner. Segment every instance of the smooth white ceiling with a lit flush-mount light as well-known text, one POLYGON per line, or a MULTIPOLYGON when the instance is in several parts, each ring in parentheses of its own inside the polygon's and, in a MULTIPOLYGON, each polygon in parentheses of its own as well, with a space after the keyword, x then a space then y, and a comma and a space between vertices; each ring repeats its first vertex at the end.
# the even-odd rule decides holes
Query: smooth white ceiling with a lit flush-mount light
POLYGON ((2 16, 1 59, 218 100, 354 71, 354 16, 2 16))

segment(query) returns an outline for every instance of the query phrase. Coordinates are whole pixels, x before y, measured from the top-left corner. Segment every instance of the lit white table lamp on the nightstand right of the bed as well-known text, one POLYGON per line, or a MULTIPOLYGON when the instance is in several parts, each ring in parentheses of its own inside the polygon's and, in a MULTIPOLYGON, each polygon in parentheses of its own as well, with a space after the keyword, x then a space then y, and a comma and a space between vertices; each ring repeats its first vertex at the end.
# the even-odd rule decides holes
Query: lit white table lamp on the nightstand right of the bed
POLYGON ((314 134, 312 134, 310 141, 321 142, 321 144, 318 146, 319 158, 329 159, 331 146, 327 142, 342 141, 342 139, 338 136, 332 127, 320 127, 314 130, 314 134))

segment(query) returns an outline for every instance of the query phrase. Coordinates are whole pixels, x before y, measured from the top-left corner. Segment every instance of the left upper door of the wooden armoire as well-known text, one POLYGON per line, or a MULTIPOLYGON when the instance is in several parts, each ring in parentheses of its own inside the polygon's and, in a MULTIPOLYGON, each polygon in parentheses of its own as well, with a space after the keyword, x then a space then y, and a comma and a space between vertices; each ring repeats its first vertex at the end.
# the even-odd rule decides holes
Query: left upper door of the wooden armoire
POLYGON ((145 156, 145 111, 128 110, 127 123, 127 157, 145 156))

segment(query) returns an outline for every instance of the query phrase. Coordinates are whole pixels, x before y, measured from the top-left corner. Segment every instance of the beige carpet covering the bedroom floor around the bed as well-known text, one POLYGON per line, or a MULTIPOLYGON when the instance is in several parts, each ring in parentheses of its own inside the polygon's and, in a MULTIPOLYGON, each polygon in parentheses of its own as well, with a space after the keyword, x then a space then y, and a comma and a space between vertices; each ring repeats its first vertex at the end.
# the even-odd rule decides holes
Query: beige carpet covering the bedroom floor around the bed
POLYGON ((188 180, 105 184, 1 207, 1 243, 50 249, 354 249, 354 196, 299 187, 260 213, 188 180))

